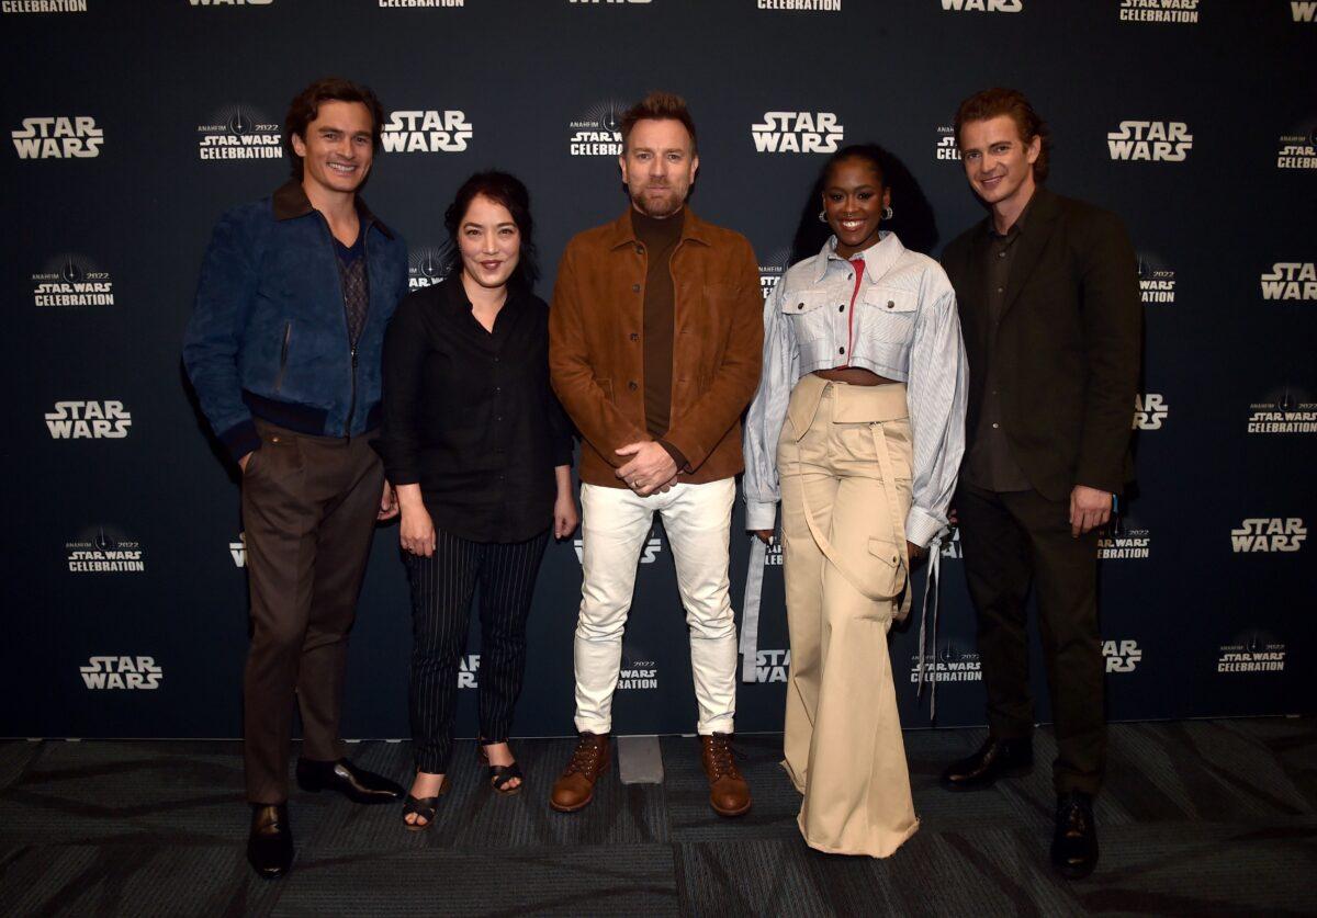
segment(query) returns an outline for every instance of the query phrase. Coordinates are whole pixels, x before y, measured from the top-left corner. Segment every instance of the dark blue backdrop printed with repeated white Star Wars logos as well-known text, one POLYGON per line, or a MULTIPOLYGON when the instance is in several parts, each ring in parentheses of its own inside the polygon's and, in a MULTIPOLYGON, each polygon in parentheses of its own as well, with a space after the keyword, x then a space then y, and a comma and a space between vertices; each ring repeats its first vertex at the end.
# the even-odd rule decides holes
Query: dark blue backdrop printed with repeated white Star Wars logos
MULTIPOLYGON (((690 101, 694 206, 749 237, 765 293, 819 243, 810 189, 839 143, 890 150, 893 228, 936 255, 984 213, 951 135, 956 104, 1023 89, 1055 130, 1050 184, 1119 213, 1141 256, 1139 481, 1102 543, 1110 715, 1313 710, 1317 3, 3 0, 0 26, 0 734, 240 734, 237 481, 179 342, 211 226, 284 180, 284 108, 321 75, 370 84, 389 112, 366 197, 407 238, 414 285, 437 279, 458 183, 500 167, 532 191, 545 297, 568 238, 626 206, 616 118, 651 88, 690 101)), ((749 542, 736 513, 739 609, 749 542)), ((957 548, 927 651, 943 726, 982 722, 957 548)), ((578 552, 566 541, 545 559, 519 735, 572 731, 578 552)), ((780 562, 770 551, 741 731, 781 729, 780 562)), ((353 633, 346 735, 407 734, 410 627, 387 526, 353 633)), ((928 723, 917 635, 892 634, 907 726, 928 723)), ((693 731, 661 527, 624 647, 618 730, 693 731)), ((462 668, 474 687, 474 634, 462 668)))

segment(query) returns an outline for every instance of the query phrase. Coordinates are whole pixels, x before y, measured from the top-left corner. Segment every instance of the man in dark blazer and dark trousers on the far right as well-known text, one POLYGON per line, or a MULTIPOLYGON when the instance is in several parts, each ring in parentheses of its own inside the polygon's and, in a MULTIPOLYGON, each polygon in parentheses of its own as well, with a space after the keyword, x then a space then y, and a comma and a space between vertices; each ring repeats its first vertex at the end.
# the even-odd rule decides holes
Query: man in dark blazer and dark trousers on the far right
POLYGON ((1051 856, 1062 875, 1083 877, 1097 863, 1092 802, 1106 746, 1097 530, 1131 468, 1138 262, 1114 214, 1042 185, 1047 128, 1023 95, 971 96, 955 130, 969 185, 989 208, 943 254, 969 356, 955 506, 989 737, 943 785, 986 788, 1033 765, 1033 585, 1058 744, 1051 856))

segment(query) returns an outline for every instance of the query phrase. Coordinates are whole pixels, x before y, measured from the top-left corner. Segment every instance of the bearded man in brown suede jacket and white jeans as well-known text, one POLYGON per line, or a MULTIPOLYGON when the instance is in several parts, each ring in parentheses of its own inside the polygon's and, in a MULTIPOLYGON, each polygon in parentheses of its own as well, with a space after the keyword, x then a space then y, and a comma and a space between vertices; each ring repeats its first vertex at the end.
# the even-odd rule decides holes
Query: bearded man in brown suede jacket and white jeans
POLYGON ((581 739, 551 805, 586 806, 608 768, 622 633, 657 510, 690 626, 710 805, 740 815, 751 800, 731 748, 736 626, 727 560, 740 416, 759 384, 764 341, 759 267, 743 235, 686 206, 699 157, 678 96, 653 92, 633 105, 622 137, 631 206, 568 243, 549 310, 553 388, 585 441, 581 739))

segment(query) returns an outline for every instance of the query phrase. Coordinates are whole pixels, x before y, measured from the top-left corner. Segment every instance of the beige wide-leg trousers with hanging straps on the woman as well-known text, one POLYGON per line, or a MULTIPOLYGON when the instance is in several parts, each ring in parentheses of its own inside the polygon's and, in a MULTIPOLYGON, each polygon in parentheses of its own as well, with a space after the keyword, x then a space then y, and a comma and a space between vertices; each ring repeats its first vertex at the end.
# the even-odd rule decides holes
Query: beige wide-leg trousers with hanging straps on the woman
POLYGON ((786 759, 810 847, 886 858, 919 827, 888 655, 909 612, 905 385, 807 375, 778 443, 792 639, 786 759))

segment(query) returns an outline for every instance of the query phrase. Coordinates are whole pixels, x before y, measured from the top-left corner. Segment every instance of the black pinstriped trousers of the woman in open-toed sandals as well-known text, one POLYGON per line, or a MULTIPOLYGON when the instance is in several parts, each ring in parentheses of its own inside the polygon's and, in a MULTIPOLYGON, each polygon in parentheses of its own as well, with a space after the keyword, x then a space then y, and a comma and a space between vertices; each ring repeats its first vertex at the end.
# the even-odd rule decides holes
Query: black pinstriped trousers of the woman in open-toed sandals
POLYGON ((404 554, 412 593, 411 723, 416 769, 448 771, 460 659, 481 588, 481 737, 503 742, 525 675, 525 619, 548 530, 525 542, 470 542, 441 529, 429 558, 404 554))

